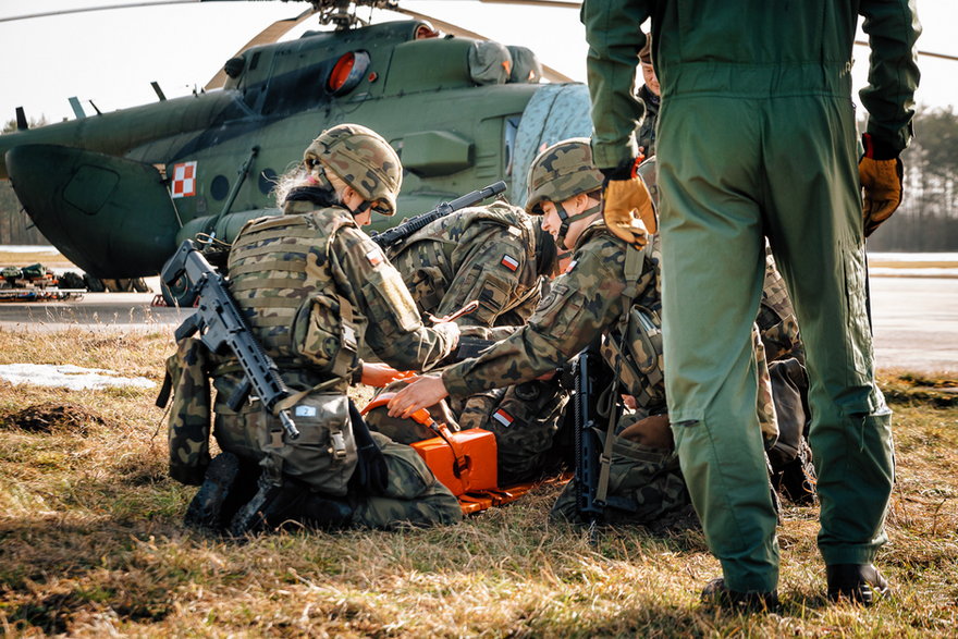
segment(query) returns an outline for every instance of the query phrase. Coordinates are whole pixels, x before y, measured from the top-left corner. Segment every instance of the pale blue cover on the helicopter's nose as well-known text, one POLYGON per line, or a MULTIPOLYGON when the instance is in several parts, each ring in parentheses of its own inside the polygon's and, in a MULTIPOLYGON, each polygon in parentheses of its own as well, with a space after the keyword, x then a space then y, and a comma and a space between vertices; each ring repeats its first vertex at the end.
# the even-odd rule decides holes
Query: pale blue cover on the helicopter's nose
POLYGON ((584 84, 544 84, 532 95, 516 132, 512 202, 525 205, 529 165, 545 147, 592 135, 591 112, 589 87, 584 84))

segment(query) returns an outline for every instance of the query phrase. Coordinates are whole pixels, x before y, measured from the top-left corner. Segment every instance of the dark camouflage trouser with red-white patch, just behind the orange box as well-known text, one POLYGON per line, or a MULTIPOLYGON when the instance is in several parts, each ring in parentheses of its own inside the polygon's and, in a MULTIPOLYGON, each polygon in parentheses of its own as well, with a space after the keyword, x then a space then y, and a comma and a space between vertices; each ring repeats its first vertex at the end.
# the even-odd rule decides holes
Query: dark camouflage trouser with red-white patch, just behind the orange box
POLYGON ((545 469, 568 393, 557 381, 531 381, 451 402, 459 427, 495 434, 499 484, 536 479, 545 469))

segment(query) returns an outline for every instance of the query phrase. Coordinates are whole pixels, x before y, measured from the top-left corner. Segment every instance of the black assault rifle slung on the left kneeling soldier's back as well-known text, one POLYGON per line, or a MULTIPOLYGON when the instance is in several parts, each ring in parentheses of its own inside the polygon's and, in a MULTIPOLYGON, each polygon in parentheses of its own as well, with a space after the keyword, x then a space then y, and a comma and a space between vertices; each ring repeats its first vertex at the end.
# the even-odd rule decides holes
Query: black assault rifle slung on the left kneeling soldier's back
POLYGON ((228 404, 237 410, 250 392, 263 403, 267 410, 275 414, 290 439, 299 437, 299 431, 286 409, 274 413, 277 404, 292 395, 280 378, 279 368, 267 355, 243 319, 236 303, 226 290, 226 281, 213 269, 192 239, 184 239, 176 253, 163 267, 161 273, 167 286, 171 286, 183 275, 199 297, 196 312, 186 318, 176 329, 176 341, 199 332, 199 339, 212 353, 224 354, 229 346, 240 366, 245 380, 240 390, 230 397, 228 404))

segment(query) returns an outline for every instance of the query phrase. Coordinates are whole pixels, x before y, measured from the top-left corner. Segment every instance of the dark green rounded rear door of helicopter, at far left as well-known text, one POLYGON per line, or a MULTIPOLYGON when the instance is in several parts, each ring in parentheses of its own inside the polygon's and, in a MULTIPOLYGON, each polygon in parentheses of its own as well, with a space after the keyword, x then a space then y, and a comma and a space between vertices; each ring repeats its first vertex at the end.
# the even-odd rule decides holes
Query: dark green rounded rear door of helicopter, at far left
POLYGON ((150 164, 58 145, 7 152, 13 189, 44 236, 98 278, 159 272, 181 224, 150 164))

